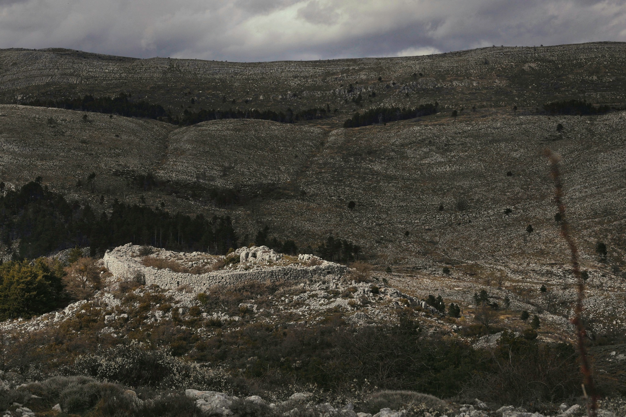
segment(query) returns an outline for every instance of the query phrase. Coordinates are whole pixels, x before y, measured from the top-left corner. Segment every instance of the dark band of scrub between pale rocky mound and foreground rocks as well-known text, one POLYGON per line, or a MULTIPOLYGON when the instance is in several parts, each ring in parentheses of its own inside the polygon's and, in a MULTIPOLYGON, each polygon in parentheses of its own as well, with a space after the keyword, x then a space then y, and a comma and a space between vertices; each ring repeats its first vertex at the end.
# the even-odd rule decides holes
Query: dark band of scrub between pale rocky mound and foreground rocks
MULTIPOLYGON (((443 397, 464 393, 507 404, 562 401, 578 394, 580 375, 568 344, 538 343, 506 333, 495 350, 481 351, 458 339, 427 338, 410 309, 398 313, 395 326, 355 328, 335 314, 314 327, 249 324, 218 331, 203 341, 185 341, 182 329, 172 327, 169 332, 177 334, 170 334, 148 326, 142 332, 129 329, 129 341, 120 343, 115 338, 93 338, 102 325, 94 327, 97 321, 87 319, 97 317, 98 311, 86 311, 69 327, 59 329, 54 336, 58 344, 46 348, 51 354, 73 346, 69 358, 58 363, 31 362, 31 366, 42 375, 58 369, 133 387, 228 389, 240 395, 260 387, 280 391, 306 384, 335 393, 374 386, 443 397), (81 334, 71 332, 76 325, 81 334), (211 368, 172 356, 180 341, 188 346, 188 359, 211 363, 211 368), (171 350, 166 350, 168 344, 171 350), (217 368, 222 371, 211 370, 217 368)), ((21 342, 22 349, 25 344, 21 342)), ((4 346, 5 351, 10 348, 4 346)))

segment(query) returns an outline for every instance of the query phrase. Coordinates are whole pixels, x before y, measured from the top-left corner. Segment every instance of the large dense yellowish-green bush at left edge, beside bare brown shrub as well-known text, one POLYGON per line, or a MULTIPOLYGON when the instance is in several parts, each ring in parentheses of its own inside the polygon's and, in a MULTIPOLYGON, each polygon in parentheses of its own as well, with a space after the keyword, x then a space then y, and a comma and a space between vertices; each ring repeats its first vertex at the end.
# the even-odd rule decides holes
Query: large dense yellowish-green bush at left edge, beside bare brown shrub
POLYGON ((0 319, 30 318, 58 306, 63 290, 58 261, 11 261, 0 266, 0 319))

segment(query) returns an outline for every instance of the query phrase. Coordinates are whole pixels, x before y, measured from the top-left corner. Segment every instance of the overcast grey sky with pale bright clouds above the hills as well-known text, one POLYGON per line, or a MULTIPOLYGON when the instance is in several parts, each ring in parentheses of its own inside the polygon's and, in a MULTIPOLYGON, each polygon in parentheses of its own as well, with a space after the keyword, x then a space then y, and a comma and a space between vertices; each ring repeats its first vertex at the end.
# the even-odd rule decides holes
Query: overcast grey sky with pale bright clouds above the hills
POLYGON ((626 41, 626 0, 0 0, 0 48, 274 61, 626 41))

